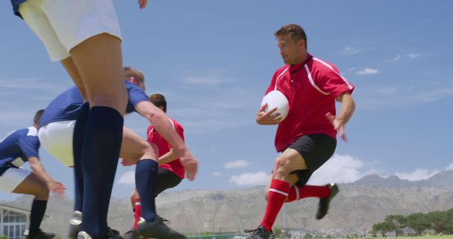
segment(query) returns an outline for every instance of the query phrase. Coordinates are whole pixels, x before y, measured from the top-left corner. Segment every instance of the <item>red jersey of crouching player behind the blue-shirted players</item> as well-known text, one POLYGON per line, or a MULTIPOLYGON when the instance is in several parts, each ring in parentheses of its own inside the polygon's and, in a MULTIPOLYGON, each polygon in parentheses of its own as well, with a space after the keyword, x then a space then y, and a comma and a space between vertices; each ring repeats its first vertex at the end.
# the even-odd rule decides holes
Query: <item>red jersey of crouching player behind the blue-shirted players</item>
MULTIPOLYGON (((175 119, 170 119, 170 122, 173 126, 173 129, 176 130, 176 133, 178 133, 181 139, 184 140, 183 127, 175 119)), ((170 151, 171 144, 169 144, 168 141, 164 139, 164 137, 162 137, 158 132, 156 132, 152 125, 148 127, 147 135, 148 142, 156 144, 156 146, 159 148, 159 157, 163 156, 164 154, 168 153, 168 151, 170 151)), ((168 170, 171 170, 171 172, 175 173, 178 177, 184 178, 185 170, 183 165, 180 163, 179 158, 176 158, 176 160, 171 161, 170 163, 161 164, 159 165, 159 168, 166 168, 168 170)))

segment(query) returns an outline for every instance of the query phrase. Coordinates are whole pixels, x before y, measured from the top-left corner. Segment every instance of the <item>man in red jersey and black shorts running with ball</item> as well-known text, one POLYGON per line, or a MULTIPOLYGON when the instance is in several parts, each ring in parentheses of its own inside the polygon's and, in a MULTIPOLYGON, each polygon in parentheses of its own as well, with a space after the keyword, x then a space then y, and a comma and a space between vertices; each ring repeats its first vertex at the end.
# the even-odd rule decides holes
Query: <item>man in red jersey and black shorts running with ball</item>
POLYGON ((351 93, 354 86, 340 76, 337 67, 307 52, 306 35, 299 25, 285 25, 275 32, 277 46, 285 66, 275 71, 268 91, 281 91, 289 102, 289 112, 281 119, 277 108, 265 112, 267 104, 256 115, 258 124, 278 124, 275 148, 282 152, 275 159, 268 200, 260 226, 249 239, 267 239, 283 203, 305 197, 319 197, 317 219, 327 214, 338 186, 305 185, 311 174, 333 155, 336 134, 346 141, 345 124, 355 109, 351 93), (336 116, 335 100, 341 103, 336 116))

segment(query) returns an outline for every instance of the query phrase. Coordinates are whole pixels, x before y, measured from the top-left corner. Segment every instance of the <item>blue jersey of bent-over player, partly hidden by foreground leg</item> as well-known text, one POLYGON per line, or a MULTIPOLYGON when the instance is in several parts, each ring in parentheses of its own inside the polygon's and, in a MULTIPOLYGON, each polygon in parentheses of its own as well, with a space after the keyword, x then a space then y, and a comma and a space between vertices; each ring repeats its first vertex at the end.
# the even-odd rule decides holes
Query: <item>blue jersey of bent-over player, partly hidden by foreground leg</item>
MULTIPOLYGON (((129 81, 125 81, 125 86, 127 95, 129 96, 126 112, 134 112, 135 105, 142 101, 148 101, 148 97, 142 88, 139 88, 139 86, 136 86, 129 81)), ((76 120, 79 116, 82 103, 83 100, 79 90, 77 90, 75 86, 69 88, 69 90, 58 95, 55 100, 52 100, 52 102, 47 105, 41 115, 40 127, 49 124, 50 122, 76 120)))

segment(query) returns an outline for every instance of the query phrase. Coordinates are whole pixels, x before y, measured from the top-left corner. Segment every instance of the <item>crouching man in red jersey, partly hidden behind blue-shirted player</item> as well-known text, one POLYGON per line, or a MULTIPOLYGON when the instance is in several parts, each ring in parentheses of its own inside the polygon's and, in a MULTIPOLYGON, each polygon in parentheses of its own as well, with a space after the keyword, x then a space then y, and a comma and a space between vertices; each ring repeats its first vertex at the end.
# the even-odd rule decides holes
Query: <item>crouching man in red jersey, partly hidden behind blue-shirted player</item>
MULTIPOLYGON (((162 111, 167 111, 167 102, 164 95, 161 94, 152 94, 148 97, 149 101, 159 107, 162 111)), ((184 140, 184 129, 183 127, 177 122, 175 119, 170 119, 171 125, 173 129, 175 129, 176 133, 184 140)), ((159 169, 158 169, 158 180, 156 185, 156 190, 154 195, 157 196, 159 193, 163 192, 164 190, 175 187, 178 185, 185 176, 185 169, 183 165, 180 163, 178 154, 176 151, 171 147, 171 144, 168 143, 156 130, 154 129, 153 125, 150 125, 147 130, 148 135, 148 142, 155 144, 159 148, 159 169)), ((122 160, 123 165, 132 165, 132 161, 122 160)), ((124 239, 137 239, 139 235, 137 234, 137 224, 140 220, 140 212, 141 212, 141 203, 139 199, 139 194, 137 190, 134 189, 132 194, 130 195, 130 201, 132 204, 132 210, 134 211, 134 225, 130 231, 127 231, 125 235, 123 235, 124 239)), ((157 216, 158 219, 162 219, 157 216)))

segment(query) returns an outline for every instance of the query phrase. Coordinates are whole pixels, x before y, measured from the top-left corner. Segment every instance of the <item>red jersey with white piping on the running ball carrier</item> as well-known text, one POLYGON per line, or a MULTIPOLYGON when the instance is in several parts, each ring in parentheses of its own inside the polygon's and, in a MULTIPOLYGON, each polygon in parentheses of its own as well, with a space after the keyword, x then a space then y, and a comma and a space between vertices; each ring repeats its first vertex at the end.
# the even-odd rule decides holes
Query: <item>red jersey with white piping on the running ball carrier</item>
POLYGON ((275 71, 266 94, 274 90, 281 91, 289 102, 288 115, 275 134, 275 148, 280 152, 306 134, 336 139, 336 130, 325 115, 336 115, 336 98, 352 93, 354 86, 340 76, 336 66, 308 54, 304 62, 275 71))

